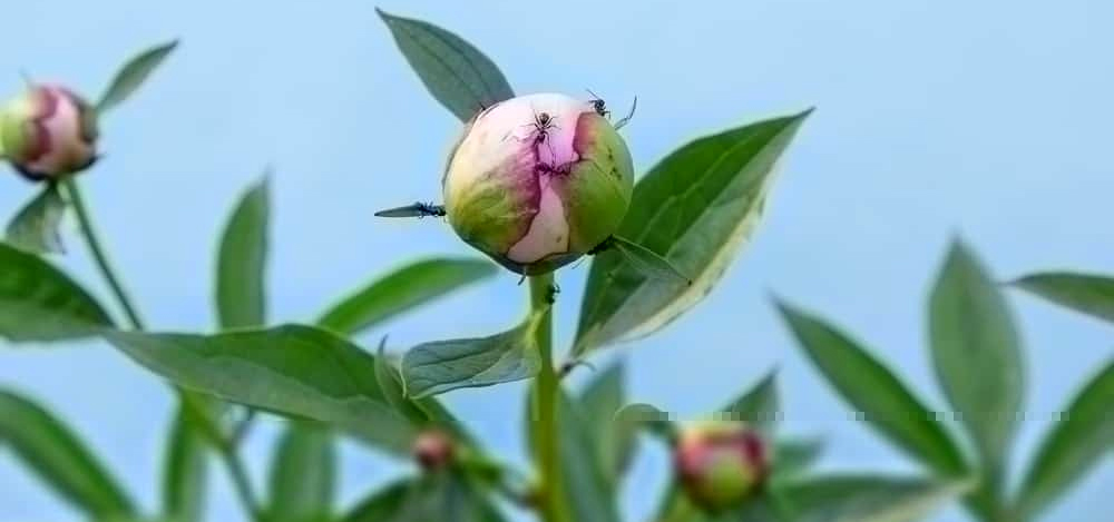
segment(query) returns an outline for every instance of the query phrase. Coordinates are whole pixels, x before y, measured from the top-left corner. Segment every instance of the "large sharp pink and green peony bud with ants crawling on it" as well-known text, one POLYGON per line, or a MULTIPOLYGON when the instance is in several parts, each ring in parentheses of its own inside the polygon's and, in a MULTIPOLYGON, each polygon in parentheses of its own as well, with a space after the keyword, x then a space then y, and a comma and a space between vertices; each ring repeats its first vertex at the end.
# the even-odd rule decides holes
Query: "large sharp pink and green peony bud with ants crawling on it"
POLYGON ((634 188, 631 152, 588 101, 529 95, 480 112, 449 158, 449 223, 508 269, 559 268, 607 239, 634 188))

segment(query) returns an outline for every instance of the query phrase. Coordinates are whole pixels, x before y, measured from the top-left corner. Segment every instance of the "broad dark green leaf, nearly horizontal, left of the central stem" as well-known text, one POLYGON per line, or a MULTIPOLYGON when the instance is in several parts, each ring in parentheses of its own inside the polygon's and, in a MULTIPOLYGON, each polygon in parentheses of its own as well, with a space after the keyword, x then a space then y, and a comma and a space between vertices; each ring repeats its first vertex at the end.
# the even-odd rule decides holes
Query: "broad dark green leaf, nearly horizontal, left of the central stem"
POLYGON ((113 331, 105 338, 185 388, 409 452, 414 427, 383 396, 375 357, 330 332, 286 325, 218 335, 113 331))

